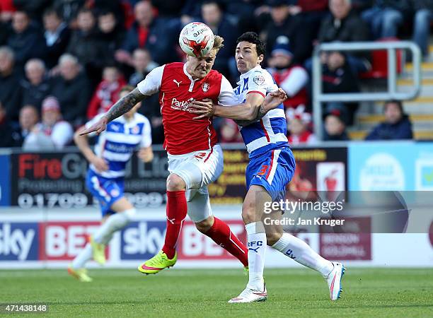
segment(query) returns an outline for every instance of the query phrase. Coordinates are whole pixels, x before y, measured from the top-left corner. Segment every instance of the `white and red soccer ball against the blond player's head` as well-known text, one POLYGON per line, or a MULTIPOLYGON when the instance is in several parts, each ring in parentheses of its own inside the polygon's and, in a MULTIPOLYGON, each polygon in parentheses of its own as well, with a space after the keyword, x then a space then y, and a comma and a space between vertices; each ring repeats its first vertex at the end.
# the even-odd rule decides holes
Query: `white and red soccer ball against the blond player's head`
POLYGON ((214 46, 214 33, 204 23, 188 23, 180 31, 179 45, 191 57, 203 57, 214 46))

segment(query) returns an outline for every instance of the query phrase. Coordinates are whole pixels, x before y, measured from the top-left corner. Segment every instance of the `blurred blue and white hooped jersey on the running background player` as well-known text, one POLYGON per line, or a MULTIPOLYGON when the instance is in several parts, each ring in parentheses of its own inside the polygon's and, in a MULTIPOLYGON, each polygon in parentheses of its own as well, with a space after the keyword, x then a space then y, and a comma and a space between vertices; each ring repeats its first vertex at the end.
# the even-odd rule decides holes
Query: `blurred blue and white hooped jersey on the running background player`
MULTIPOLYGON (((99 114, 86 124, 90 127, 104 114, 99 114)), ((98 172, 93 165, 90 169, 105 178, 118 178, 125 176, 125 166, 131 158, 134 149, 149 147, 152 144, 151 125, 149 119, 142 114, 134 114, 134 117, 127 121, 124 116, 114 119, 107 124, 95 145, 95 153, 98 157, 105 159, 108 170, 98 172)))

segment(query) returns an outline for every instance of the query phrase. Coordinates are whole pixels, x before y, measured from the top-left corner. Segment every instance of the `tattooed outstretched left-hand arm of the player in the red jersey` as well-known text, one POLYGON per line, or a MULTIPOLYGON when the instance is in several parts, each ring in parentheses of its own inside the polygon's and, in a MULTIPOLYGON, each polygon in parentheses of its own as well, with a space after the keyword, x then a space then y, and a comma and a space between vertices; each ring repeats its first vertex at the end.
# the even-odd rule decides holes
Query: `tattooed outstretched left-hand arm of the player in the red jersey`
POLYGON ((134 90, 132 90, 132 92, 130 92, 128 95, 125 95, 124 97, 120 98, 120 100, 117 100, 117 102, 115 102, 115 105, 112 105, 110 110, 108 110, 108 112, 103 117, 101 117, 98 122, 88 127, 88 129, 84 129, 83 131, 81 131, 80 135, 82 136, 90 134, 93 131, 95 131, 96 134, 100 134, 105 130, 108 122, 111 122, 112 119, 116 119, 117 117, 122 116, 122 114, 129 112, 132 107, 134 107, 135 105, 137 105, 138 102, 141 102, 147 97, 147 95, 143 95, 142 93, 140 93, 138 88, 134 88, 134 90))

